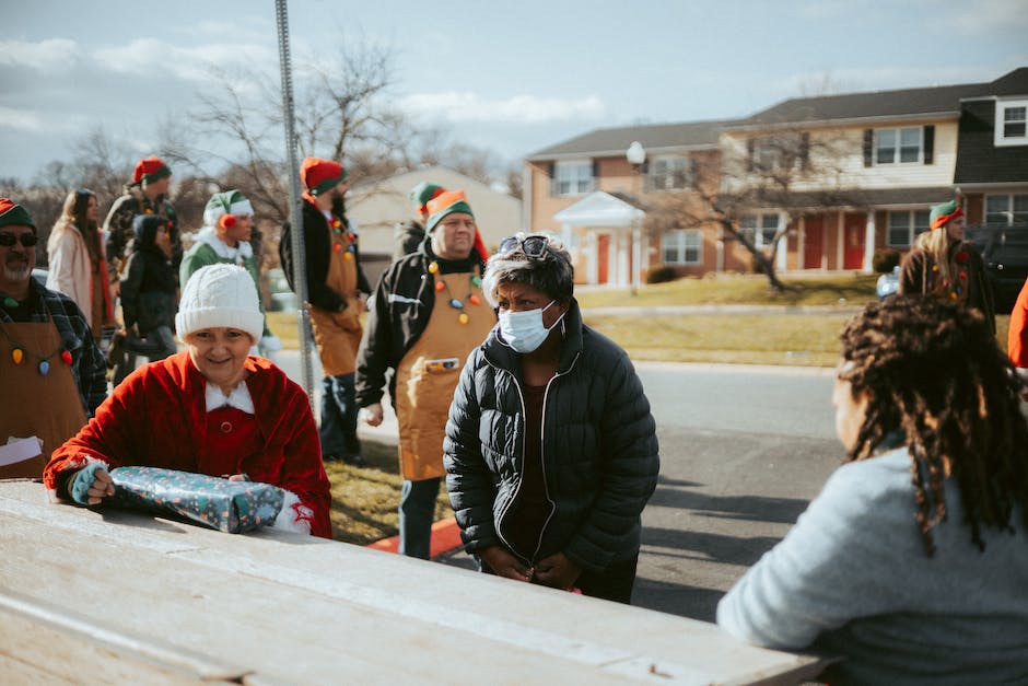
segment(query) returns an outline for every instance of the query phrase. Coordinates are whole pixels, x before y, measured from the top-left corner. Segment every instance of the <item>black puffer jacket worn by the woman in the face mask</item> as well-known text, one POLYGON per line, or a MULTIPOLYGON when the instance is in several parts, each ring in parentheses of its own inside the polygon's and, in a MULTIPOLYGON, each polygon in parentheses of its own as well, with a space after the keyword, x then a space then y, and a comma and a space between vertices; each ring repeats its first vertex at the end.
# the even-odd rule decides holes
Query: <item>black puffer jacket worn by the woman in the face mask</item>
MULTIPOLYGON (((538 559, 563 553, 579 567, 603 572, 639 551, 640 513, 659 470, 656 429, 628 354, 583 326, 577 302, 564 319, 561 359, 542 410, 553 513, 538 559)), ((511 549, 503 518, 521 485, 519 356, 497 336, 493 329, 460 374, 443 444, 449 500, 469 551, 511 549)))

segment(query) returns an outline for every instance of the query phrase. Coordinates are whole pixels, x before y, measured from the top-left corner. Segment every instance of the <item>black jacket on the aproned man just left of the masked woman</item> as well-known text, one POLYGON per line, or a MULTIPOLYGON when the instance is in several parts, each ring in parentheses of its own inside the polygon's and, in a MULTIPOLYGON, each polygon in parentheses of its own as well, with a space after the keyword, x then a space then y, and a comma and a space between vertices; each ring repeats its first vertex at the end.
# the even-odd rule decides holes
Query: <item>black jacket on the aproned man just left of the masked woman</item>
MULTIPOLYGON (((467 271, 483 265, 472 257, 467 263, 448 263, 454 269, 467 271)), ((372 298, 364 338, 357 354, 357 406, 367 407, 382 402, 388 377, 389 397, 396 397, 397 364, 424 333, 435 307, 435 277, 429 274, 429 263, 436 259, 429 243, 418 252, 389 265, 372 298), (392 370, 392 371, 390 371, 392 370)), ((447 271, 446 263, 441 271, 447 271)), ((396 407, 396 400, 393 400, 396 407)))

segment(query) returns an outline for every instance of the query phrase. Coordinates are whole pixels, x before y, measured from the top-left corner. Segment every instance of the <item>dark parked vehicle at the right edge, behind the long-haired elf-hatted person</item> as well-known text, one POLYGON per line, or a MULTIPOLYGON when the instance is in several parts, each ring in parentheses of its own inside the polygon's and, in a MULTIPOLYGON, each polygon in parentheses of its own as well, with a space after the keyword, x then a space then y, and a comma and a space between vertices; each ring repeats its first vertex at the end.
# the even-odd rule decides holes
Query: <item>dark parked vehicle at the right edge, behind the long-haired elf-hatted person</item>
POLYGON ((1028 225, 983 224, 965 233, 985 260, 996 312, 1008 314, 1028 279, 1028 225))

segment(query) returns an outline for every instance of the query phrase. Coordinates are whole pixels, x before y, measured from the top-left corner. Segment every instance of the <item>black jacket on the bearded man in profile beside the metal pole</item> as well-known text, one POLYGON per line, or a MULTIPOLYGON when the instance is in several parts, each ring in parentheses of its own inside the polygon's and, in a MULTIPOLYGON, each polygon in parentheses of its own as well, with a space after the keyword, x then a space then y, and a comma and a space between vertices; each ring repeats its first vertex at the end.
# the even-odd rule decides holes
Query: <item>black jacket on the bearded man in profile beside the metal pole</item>
MULTIPOLYGON (((343 221, 346 221, 343 219, 343 221)), ((361 267, 361 252, 359 242, 353 245, 353 258, 357 264, 357 289, 362 293, 371 293, 371 284, 361 267)), ((303 201, 303 245, 304 259, 307 268, 307 302, 315 307, 328 312, 342 312, 347 309, 347 301, 341 293, 337 293, 325 284, 328 278, 328 263, 332 254, 331 239, 329 237, 328 221, 317 206, 303 201)), ((292 228, 289 222, 282 225, 282 237, 279 243, 279 259, 282 271, 292 291, 296 292, 295 266, 293 265, 292 228)))

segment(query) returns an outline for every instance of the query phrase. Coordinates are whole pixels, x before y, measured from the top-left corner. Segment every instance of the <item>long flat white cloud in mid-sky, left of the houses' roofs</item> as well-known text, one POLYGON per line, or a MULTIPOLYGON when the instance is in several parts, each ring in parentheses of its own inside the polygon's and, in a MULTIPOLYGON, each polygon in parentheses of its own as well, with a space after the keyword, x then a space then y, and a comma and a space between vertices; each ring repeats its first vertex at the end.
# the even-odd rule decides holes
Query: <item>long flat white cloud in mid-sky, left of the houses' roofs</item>
POLYGON ((513 95, 487 100, 475 93, 447 91, 416 93, 400 98, 400 107, 411 114, 444 119, 452 124, 479 121, 503 124, 547 124, 576 119, 598 119, 606 109, 595 95, 580 100, 513 95))

